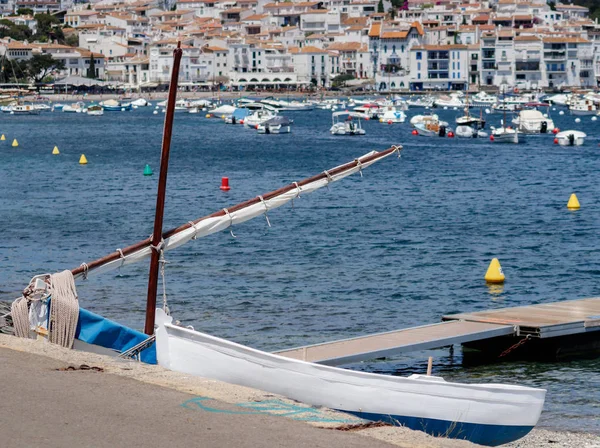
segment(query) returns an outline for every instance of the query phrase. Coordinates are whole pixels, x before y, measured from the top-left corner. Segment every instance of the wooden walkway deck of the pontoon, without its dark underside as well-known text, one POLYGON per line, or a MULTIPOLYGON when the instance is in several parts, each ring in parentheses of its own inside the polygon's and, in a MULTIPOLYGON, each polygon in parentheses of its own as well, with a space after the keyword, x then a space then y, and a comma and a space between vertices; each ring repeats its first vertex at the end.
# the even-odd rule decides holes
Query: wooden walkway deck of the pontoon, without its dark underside
MULTIPOLYGON (((600 330, 600 298, 444 316, 443 322, 277 352, 341 365, 498 336, 551 338, 600 330)), ((599 333, 600 336, 600 333, 599 333)))

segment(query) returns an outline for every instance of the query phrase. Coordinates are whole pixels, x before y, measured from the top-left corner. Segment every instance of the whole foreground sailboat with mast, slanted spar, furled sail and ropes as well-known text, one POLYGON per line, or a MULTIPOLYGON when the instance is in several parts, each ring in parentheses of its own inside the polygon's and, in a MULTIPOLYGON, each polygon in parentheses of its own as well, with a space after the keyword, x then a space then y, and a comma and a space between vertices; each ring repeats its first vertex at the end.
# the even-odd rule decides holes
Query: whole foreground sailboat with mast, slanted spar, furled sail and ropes
MULTIPOLYGON (((115 339, 122 339, 119 332, 124 327, 119 326, 117 331, 114 327, 118 324, 101 316, 86 317, 85 313, 91 313, 79 309, 74 280, 118 269, 150 257, 145 325, 147 337, 135 344, 132 342, 133 337, 127 344, 121 343, 123 347, 120 351, 124 352, 122 355, 131 355, 136 351, 151 352, 155 349, 158 363, 167 369, 256 387, 307 404, 328 406, 352 413, 365 419, 402 424, 430 434, 467 439, 490 446, 507 443, 527 434, 541 414, 546 393, 543 389, 503 384, 451 383, 436 376, 412 375, 400 378, 324 366, 255 350, 179 327, 173 324, 172 318, 166 312, 166 303, 163 309, 156 309, 159 264, 161 260, 164 261, 166 251, 252 218, 266 216, 271 210, 290 203, 301 194, 326 187, 351 174, 361 173, 373 163, 402 150, 401 146, 393 146, 381 152, 372 151, 316 176, 163 232, 166 174, 181 55, 178 45, 174 51, 172 81, 165 116, 152 237, 118 249, 96 261, 83 263, 72 271, 32 279, 23 297, 13 304, 13 319, 18 318, 15 323, 20 321, 19 325, 15 325, 16 333, 23 330, 23 321, 20 319, 24 313, 25 337, 29 335, 28 319, 33 316, 38 326, 46 323, 50 341, 56 340, 58 336, 63 345, 70 346, 72 341, 69 339, 81 338, 84 337, 83 334, 96 331, 97 337, 93 339, 95 342, 90 342, 92 339, 86 337, 88 343, 116 348, 119 343, 115 342, 115 339), (55 287, 59 284, 61 288, 55 287), (50 305, 47 304, 48 299, 51 300, 50 305), (65 322, 61 322, 59 314, 53 311, 57 304, 61 304, 63 314, 70 316, 65 322), (52 315, 53 319, 40 319, 39 316, 42 316, 43 312, 38 308, 34 313, 28 312, 28 308, 41 305, 48 308, 46 314, 52 315), (90 319, 95 319, 93 324, 89 323, 90 319), (79 330, 75 330, 74 322, 79 330), (109 324, 112 325, 110 329, 106 327, 109 324), (156 332, 155 324, 158 326, 156 332), (119 334, 115 336, 115 333, 119 334), (125 345, 129 348, 125 349, 125 345)), ((134 336, 138 337, 139 334, 134 336)))

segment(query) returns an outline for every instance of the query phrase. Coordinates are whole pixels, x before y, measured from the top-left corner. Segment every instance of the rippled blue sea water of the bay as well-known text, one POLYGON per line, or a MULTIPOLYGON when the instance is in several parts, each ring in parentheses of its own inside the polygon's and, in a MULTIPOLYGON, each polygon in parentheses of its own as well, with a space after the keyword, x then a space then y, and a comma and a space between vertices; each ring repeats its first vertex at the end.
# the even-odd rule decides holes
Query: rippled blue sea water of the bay
MULTIPOLYGON (((29 279, 72 269, 152 232, 163 114, 0 116, 0 300, 29 279), (16 138, 18 148, 10 144, 16 138), (58 146, 61 154, 53 156, 58 146), (78 164, 85 154, 89 163, 78 164)), ((410 111, 409 117, 419 113, 410 111)), ((438 111, 453 121, 459 111, 438 111)), ((200 115, 176 115, 165 228, 402 144, 388 158, 314 194, 167 254, 167 291, 186 325, 274 350, 438 322, 442 315, 600 293, 600 121, 551 112, 583 147, 531 136, 415 137, 407 123, 364 123, 334 137, 329 112, 290 112, 292 134, 258 135, 200 115), (228 176, 231 191, 219 190, 228 176), (568 211, 576 192, 581 210, 568 211), (507 276, 488 287, 498 257, 507 276)), ((500 115, 489 115, 498 126, 500 115)), ((78 283, 84 307, 143 328, 148 265, 78 283)), ((160 285, 159 285, 160 287, 160 285)), ((600 433, 600 361, 465 367, 460 349, 352 366, 393 374, 545 387, 540 425, 600 433)))

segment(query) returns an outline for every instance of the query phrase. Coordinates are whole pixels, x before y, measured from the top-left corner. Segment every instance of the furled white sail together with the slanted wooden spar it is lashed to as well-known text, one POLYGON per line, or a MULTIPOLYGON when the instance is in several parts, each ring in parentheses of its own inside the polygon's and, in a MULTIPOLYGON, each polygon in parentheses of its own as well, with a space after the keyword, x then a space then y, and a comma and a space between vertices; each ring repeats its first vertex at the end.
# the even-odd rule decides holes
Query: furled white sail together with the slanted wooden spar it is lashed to
POLYGON ((127 266, 149 258, 153 249, 175 249, 191 239, 202 238, 215 232, 226 230, 231 226, 241 224, 257 216, 265 215, 267 212, 296 199, 301 194, 311 193, 332 182, 360 172, 364 168, 395 152, 399 154, 401 150, 401 146, 393 146, 381 152, 371 151, 350 163, 337 166, 316 176, 294 182, 278 190, 242 202, 228 209, 220 210, 195 221, 190 221, 176 229, 169 230, 163 233, 163 241, 159 247, 153 247, 150 239, 146 239, 125 249, 119 249, 99 260, 91 263, 83 263, 80 267, 73 269, 73 275, 75 278, 87 278, 92 273, 101 274, 108 272, 118 269, 121 266, 127 266))

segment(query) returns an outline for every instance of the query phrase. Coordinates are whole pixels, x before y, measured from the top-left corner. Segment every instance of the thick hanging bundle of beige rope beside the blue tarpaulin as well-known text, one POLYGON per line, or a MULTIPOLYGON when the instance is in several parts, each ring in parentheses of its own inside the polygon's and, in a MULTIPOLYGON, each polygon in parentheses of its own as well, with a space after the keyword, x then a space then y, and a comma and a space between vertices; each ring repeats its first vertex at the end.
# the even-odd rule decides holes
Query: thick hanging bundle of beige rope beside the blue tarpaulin
POLYGON ((79 302, 71 271, 66 270, 50 276, 50 293, 52 300, 48 340, 72 348, 79 319, 79 302))

